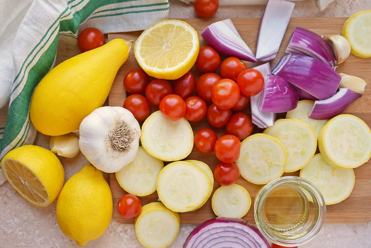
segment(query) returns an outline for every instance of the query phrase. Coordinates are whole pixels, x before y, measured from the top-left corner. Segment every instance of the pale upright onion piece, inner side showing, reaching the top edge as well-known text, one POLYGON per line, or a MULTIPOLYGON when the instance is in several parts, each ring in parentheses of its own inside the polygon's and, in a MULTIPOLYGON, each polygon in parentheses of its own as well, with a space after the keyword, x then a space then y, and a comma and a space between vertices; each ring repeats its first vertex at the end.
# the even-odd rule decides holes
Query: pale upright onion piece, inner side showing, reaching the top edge
POLYGON ((260 22, 256 44, 256 59, 270 61, 277 56, 295 3, 269 0, 260 22))

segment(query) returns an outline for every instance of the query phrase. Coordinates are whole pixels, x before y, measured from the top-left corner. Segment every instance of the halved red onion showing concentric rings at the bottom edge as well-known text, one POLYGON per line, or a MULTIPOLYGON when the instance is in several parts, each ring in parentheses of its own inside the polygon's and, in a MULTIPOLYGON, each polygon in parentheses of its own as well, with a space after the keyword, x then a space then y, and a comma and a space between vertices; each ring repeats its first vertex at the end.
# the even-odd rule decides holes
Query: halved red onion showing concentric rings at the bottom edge
POLYGON ((270 248, 259 230, 240 218, 216 217, 197 226, 183 248, 270 248))

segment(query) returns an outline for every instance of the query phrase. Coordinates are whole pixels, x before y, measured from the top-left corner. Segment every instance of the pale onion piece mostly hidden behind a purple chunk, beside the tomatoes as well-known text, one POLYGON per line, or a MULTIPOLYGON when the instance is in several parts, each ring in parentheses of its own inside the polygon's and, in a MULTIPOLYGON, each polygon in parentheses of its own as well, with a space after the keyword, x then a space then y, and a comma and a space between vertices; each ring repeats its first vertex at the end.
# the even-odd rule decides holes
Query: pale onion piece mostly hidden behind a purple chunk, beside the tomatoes
MULTIPOLYGON (((271 74, 269 62, 262 65, 255 66, 254 69, 260 71, 260 73, 266 78, 268 74, 271 74)), ((259 99, 262 92, 260 91, 257 95, 250 97, 250 112, 251 120, 254 125, 259 128, 266 128, 273 125, 276 120, 275 112, 263 112, 259 110, 259 99)))

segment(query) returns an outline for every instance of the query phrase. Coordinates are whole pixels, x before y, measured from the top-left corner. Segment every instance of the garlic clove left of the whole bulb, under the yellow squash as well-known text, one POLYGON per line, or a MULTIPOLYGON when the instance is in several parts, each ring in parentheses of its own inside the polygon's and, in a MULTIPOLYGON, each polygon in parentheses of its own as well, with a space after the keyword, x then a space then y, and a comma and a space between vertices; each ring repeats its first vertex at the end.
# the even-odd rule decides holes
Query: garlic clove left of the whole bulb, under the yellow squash
POLYGON ((50 150, 62 157, 75 157, 79 151, 79 137, 72 134, 63 134, 50 137, 50 150))

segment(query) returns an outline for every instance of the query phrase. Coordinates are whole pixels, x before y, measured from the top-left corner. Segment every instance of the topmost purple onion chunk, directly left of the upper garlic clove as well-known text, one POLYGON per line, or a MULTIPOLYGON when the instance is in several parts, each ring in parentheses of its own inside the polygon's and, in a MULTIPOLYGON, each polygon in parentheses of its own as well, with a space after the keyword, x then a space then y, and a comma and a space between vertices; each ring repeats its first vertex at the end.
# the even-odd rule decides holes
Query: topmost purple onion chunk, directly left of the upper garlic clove
POLYGON ((318 59, 334 68, 335 56, 331 46, 315 32, 295 27, 286 48, 286 53, 299 53, 318 59))

